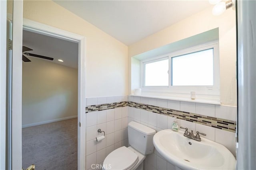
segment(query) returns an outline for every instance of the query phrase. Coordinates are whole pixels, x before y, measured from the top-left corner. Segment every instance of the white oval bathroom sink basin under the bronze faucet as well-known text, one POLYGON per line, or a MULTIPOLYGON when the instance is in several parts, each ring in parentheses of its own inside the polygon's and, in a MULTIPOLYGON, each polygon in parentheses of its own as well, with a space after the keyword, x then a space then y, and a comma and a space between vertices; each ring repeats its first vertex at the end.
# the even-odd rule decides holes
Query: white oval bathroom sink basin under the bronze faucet
POLYGON ((235 169, 236 159, 226 147, 203 137, 198 142, 183 133, 166 129, 154 135, 156 150, 172 165, 182 170, 235 169))

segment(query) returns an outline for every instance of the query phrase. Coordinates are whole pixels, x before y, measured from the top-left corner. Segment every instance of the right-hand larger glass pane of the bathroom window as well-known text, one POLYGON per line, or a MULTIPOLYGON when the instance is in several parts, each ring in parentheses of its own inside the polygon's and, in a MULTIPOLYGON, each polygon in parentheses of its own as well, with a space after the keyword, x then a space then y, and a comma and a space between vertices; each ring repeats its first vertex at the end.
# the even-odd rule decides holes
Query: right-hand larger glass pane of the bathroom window
POLYGON ((213 48, 171 59, 172 86, 213 86, 213 48))

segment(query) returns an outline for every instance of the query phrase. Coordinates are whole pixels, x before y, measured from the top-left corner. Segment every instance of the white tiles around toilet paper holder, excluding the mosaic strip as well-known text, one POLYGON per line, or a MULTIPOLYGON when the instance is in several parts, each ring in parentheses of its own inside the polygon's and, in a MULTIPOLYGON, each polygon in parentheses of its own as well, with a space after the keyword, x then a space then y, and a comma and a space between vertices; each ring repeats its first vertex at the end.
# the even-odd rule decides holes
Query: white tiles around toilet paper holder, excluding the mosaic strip
MULTIPOLYGON (((127 101, 127 96, 90 98, 89 104, 95 104, 95 101, 102 104, 105 101, 113 103, 122 100, 127 101)), ((86 170, 92 168, 91 164, 102 163, 114 149, 128 147, 127 125, 128 107, 86 113, 86 170), (105 131, 106 135, 105 139, 97 143, 96 136, 103 135, 97 132, 99 128, 105 131)))

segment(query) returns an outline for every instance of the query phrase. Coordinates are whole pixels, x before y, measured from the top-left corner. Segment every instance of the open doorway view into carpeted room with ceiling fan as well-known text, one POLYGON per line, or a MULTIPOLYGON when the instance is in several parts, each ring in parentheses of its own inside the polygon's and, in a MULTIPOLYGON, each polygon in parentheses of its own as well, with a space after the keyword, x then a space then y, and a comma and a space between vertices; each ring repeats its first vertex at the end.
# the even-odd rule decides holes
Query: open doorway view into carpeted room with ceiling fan
POLYGON ((22 167, 77 169, 78 43, 23 31, 22 167))

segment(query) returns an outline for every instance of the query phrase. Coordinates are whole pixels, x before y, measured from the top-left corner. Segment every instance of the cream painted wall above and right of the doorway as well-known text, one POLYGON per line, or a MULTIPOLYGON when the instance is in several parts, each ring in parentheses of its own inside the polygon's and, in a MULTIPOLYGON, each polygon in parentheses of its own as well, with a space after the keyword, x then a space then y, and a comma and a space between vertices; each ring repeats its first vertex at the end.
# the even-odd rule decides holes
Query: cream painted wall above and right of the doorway
POLYGON ((24 1, 23 17, 86 37, 87 98, 128 94, 126 45, 49 0, 24 1))

